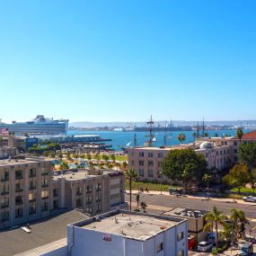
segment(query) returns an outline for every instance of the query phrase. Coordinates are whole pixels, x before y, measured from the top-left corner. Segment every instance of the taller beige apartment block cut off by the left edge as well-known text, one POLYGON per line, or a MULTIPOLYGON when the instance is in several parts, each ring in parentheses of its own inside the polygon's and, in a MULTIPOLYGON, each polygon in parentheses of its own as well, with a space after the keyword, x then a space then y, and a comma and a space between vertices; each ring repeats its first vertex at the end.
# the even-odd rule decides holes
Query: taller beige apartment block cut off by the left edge
POLYGON ((0 161, 0 228, 49 216, 51 170, 40 157, 0 161))

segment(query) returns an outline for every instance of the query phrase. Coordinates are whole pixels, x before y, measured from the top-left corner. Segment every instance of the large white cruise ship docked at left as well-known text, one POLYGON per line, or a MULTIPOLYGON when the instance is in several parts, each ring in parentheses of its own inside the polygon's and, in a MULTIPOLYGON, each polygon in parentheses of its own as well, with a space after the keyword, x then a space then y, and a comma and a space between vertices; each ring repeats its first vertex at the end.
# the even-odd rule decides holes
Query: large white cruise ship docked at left
POLYGON ((68 119, 47 119, 43 115, 38 115, 27 122, 13 121, 7 124, 0 121, 0 130, 5 129, 17 135, 66 135, 68 121, 68 119))

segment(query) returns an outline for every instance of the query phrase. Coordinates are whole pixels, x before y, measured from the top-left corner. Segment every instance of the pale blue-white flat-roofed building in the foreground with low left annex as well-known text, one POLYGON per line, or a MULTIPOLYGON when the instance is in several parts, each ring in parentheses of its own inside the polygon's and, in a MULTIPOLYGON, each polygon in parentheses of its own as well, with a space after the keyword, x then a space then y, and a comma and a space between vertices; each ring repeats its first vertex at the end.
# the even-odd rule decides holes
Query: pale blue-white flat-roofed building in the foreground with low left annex
POLYGON ((188 256, 187 220, 117 209, 67 225, 67 243, 60 240, 22 255, 188 256))

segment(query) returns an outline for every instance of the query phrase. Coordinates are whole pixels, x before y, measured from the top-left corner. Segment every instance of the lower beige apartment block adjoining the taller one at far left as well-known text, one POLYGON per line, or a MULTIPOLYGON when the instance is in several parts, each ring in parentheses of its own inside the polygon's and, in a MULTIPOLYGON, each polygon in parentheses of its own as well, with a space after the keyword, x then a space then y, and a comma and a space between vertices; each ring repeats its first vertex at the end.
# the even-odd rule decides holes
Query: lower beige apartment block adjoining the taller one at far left
POLYGON ((106 170, 55 172, 52 191, 53 209, 79 208, 94 216, 125 202, 124 174, 106 170))

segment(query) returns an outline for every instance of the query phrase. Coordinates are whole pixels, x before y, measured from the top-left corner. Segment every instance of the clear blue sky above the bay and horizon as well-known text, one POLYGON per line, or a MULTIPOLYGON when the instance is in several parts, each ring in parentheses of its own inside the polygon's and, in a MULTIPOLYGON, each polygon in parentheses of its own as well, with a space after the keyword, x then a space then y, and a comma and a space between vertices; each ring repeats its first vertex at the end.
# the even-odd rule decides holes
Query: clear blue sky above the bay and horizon
POLYGON ((256 119, 255 0, 0 0, 0 118, 256 119))

